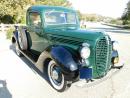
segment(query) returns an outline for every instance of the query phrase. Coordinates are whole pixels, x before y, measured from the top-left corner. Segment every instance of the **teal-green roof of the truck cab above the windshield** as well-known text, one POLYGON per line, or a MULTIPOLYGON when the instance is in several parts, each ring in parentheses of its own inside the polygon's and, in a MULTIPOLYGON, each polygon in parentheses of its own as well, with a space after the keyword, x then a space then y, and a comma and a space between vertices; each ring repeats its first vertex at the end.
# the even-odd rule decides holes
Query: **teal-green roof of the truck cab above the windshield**
POLYGON ((34 5, 34 6, 31 6, 31 7, 28 8, 28 11, 44 12, 46 10, 75 12, 75 10, 73 10, 71 8, 66 8, 66 7, 61 7, 61 6, 34 5))

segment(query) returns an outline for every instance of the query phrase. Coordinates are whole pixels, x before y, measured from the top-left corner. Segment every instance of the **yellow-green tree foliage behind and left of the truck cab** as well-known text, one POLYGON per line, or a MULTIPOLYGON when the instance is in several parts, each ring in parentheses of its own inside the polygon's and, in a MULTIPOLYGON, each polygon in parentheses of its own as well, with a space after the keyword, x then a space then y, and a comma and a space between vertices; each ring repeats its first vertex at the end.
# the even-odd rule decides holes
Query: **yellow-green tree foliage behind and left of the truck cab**
POLYGON ((0 23, 25 23, 27 8, 36 4, 71 6, 67 0, 0 0, 0 23))

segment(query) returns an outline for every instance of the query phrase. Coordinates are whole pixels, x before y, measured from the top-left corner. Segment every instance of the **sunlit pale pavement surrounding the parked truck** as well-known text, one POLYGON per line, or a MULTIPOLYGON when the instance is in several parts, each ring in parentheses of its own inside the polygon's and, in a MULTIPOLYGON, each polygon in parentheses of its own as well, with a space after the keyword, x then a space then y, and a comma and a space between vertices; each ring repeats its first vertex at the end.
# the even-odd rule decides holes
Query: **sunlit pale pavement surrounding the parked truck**
POLYGON ((97 23, 88 23, 88 28, 106 30, 119 41, 120 60, 125 63, 122 70, 92 84, 73 84, 58 93, 31 67, 33 64, 16 56, 10 41, 0 33, 0 98, 130 98, 130 31, 97 23))

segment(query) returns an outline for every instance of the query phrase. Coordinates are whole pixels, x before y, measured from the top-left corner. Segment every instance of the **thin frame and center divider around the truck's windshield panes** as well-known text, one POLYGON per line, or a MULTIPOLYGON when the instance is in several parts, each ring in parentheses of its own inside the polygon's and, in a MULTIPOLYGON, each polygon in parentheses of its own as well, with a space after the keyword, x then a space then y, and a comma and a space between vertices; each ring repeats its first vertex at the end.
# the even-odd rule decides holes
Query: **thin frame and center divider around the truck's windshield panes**
POLYGON ((77 15, 76 15, 76 13, 75 12, 64 12, 64 11, 56 11, 56 10, 49 10, 49 11, 45 11, 44 12, 44 24, 45 25, 77 25, 77 23, 78 23, 78 21, 77 21, 77 15), (57 12, 57 13, 63 13, 63 14, 65 14, 65 13, 72 13, 73 15, 74 15, 74 17, 75 17, 75 23, 73 22, 73 23, 67 23, 67 19, 65 18, 65 22, 64 23, 52 23, 52 24, 50 24, 50 23, 47 23, 46 22, 46 13, 52 13, 52 12, 57 12))

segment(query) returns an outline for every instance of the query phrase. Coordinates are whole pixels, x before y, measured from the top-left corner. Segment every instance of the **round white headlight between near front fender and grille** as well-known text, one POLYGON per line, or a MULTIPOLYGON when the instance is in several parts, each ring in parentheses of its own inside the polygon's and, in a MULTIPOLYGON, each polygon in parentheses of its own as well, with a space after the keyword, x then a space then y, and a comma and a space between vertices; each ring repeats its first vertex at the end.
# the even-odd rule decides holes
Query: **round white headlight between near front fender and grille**
POLYGON ((87 59, 90 56, 90 48, 88 46, 83 46, 80 55, 83 59, 87 59))

